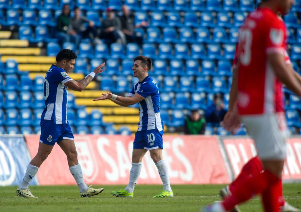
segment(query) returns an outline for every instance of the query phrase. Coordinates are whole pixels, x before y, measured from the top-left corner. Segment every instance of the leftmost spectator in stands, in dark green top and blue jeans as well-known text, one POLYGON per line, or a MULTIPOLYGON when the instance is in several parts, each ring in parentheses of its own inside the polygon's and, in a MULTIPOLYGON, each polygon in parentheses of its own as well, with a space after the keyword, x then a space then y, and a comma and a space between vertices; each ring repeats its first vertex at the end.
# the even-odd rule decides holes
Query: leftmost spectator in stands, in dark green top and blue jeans
POLYGON ((57 18, 56 37, 61 44, 65 42, 79 43, 77 33, 70 29, 70 7, 64 4, 62 14, 57 18))

